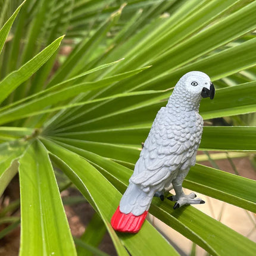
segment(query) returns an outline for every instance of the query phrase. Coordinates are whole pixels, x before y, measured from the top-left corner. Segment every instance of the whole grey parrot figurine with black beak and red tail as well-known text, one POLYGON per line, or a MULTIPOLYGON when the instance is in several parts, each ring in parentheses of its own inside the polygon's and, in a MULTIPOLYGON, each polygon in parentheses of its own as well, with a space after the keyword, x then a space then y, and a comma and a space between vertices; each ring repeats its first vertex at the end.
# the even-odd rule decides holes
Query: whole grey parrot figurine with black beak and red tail
MULTIPOLYGON (((164 199, 166 188, 173 187, 174 209, 188 204, 204 204, 195 193, 185 195, 182 183, 195 165, 204 121, 199 115, 201 98, 214 98, 214 85, 207 74, 191 71, 177 82, 166 107, 155 117, 129 186, 111 218, 119 232, 137 233, 148 214, 153 196, 164 199)), ((169 189, 170 190, 170 189, 169 189)))

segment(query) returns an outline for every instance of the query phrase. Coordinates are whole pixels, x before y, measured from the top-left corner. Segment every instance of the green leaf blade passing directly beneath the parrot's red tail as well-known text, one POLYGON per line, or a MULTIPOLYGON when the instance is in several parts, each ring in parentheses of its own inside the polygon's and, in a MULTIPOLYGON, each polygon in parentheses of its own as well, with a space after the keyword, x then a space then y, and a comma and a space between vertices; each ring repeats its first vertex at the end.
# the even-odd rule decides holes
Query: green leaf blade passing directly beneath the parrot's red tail
MULTIPOLYGON (((119 200, 121 199, 120 192, 118 192, 114 186, 111 185, 111 183, 108 182, 108 180, 96 170, 96 168, 90 165, 88 161, 79 155, 68 151, 54 142, 43 140, 43 143, 52 154, 60 158, 61 161, 65 163, 66 168, 64 171, 74 182, 74 184, 76 184, 77 188, 79 188, 82 193, 83 190, 86 189, 87 193, 85 196, 87 197, 89 195, 90 200, 92 200, 95 204, 95 210, 98 212, 107 226, 108 232, 113 239, 117 252, 119 254, 124 253, 125 249, 123 246, 121 246, 120 241, 117 238, 117 234, 110 225, 111 216, 113 215, 119 200), (88 171, 83 171, 81 166, 88 171), (76 178, 74 178, 74 176, 76 176, 76 178), (79 182, 78 180, 76 181, 76 179, 79 179, 79 182), (99 182, 99 186, 97 188, 93 182, 94 179, 98 180, 99 182), (102 200, 102 195, 104 195, 104 200, 102 200)), ((62 167, 64 167, 64 165, 62 165, 62 167)), ((132 254, 177 254, 173 247, 168 244, 166 239, 164 239, 163 236, 161 236, 160 233, 158 233, 157 230, 155 230, 154 227, 152 227, 148 222, 143 224, 143 227, 138 235, 130 236, 130 234, 119 233, 118 237, 132 254), (148 236, 148 233, 151 233, 151 236, 148 236), (154 238, 154 241, 157 241, 157 247, 152 244, 152 238, 154 238)))

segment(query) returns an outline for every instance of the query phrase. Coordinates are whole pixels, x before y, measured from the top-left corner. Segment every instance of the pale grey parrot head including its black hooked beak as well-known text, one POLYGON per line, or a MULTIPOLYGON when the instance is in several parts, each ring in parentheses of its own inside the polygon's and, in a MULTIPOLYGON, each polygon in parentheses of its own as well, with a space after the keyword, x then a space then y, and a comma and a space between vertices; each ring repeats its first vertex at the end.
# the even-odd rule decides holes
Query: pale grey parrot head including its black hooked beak
POLYGON ((202 96, 202 98, 214 98, 215 89, 207 74, 200 71, 191 71, 182 77, 185 83, 186 93, 189 93, 192 98, 202 96))

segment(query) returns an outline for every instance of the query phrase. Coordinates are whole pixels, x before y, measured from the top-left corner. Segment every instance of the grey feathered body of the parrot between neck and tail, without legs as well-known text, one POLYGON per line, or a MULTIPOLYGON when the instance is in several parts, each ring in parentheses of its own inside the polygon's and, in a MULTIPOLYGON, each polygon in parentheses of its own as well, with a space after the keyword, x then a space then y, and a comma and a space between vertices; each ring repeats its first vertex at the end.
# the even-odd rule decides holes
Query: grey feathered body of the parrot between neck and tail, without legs
POLYGON ((179 171, 195 165, 203 120, 196 111, 175 105, 158 111, 130 182, 147 192, 161 191, 179 171))

